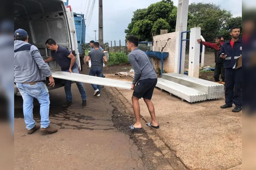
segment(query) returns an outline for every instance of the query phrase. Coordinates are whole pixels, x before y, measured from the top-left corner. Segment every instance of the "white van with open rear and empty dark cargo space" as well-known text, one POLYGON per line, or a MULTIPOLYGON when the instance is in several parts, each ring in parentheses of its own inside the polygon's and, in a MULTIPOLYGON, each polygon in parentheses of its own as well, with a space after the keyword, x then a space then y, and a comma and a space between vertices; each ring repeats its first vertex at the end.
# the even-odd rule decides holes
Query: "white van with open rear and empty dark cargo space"
MULTIPOLYGON (((65 6, 61 0, 14 0, 14 29, 24 29, 29 34, 29 43, 35 45, 43 59, 51 56, 45 42, 52 38, 60 46, 69 49, 76 57, 76 63, 80 71, 80 58, 76 39, 76 29, 72 8, 65 6)), ((61 70, 59 64, 54 60, 49 62, 49 67, 61 70)), ((54 78, 56 89, 64 86, 62 79, 54 78)), ((20 95, 14 85, 14 95, 20 95)))

